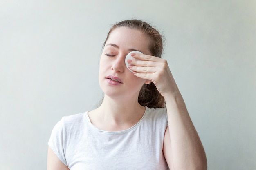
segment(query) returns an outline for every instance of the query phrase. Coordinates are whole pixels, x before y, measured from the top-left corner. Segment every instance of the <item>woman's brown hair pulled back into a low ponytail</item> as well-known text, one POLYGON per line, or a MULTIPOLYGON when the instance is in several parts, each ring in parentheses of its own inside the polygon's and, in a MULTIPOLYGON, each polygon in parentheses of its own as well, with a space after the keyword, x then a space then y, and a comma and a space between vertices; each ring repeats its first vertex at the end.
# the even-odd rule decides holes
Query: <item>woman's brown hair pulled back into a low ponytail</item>
MULTIPOLYGON (((118 27, 127 27, 130 29, 142 31, 150 40, 148 48, 151 54, 155 57, 161 58, 163 52, 164 38, 159 33, 159 31, 150 26, 150 24, 141 20, 124 20, 112 25, 110 31, 108 32, 107 38, 103 44, 103 47, 105 46, 110 33, 118 27)), ((149 108, 160 108, 165 106, 164 97, 158 92, 153 82, 151 82, 150 84, 144 84, 141 87, 138 102, 140 105, 147 106, 149 108)))

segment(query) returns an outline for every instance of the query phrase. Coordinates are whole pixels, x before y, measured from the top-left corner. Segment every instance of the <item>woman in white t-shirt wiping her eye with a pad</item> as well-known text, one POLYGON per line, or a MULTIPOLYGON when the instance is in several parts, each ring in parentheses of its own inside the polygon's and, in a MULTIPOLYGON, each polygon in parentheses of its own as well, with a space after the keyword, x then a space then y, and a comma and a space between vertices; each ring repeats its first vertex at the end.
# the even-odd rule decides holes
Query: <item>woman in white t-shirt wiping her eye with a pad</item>
POLYGON ((202 143, 148 23, 112 26, 103 45, 95 110, 63 117, 49 140, 48 170, 205 170, 202 143), (125 58, 131 53, 139 60, 125 58))

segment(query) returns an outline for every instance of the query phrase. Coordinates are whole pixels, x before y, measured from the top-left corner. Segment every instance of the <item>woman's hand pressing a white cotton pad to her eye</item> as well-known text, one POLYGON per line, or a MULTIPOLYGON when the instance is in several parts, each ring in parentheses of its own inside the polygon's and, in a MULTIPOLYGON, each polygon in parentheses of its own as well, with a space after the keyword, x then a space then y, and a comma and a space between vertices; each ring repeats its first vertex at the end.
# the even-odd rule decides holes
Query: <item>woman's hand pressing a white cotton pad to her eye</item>
POLYGON ((165 59, 139 53, 132 53, 131 56, 139 59, 127 60, 130 64, 128 67, 133 71, 134 75, 152 81, 163 97, 179 93, 165 59))

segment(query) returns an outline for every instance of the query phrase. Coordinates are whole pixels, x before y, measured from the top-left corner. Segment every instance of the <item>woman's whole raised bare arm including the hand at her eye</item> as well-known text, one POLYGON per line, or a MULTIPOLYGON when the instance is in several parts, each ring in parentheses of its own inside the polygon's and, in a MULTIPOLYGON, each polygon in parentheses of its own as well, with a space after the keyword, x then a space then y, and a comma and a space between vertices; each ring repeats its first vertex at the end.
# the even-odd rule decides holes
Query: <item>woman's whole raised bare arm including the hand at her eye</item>
POLYGON ((204 148, 189 117, 184 100, 166 60, 133 54, 129 60, 134 75, 151 80, 166 101, 168 128, 164 136, 164 156, 171 170, 206 170, 204 148))

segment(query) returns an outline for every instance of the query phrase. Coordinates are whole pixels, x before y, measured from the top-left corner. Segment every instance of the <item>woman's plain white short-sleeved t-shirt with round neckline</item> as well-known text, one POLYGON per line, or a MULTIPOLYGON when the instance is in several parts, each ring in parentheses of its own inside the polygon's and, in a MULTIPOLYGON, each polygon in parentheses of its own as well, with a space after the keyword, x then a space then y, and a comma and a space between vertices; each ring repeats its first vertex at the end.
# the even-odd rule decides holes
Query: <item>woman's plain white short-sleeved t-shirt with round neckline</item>
POLYGON ((117 132, 99 130, 85 112, 63 117, 48 144, 70 170, 168 170, 167 126, 166 108, 146 107, 137 124, 117 132))

